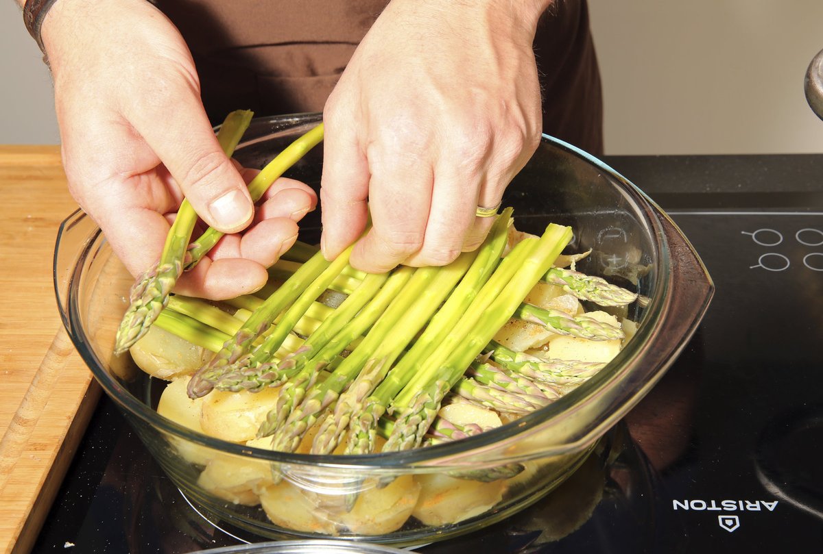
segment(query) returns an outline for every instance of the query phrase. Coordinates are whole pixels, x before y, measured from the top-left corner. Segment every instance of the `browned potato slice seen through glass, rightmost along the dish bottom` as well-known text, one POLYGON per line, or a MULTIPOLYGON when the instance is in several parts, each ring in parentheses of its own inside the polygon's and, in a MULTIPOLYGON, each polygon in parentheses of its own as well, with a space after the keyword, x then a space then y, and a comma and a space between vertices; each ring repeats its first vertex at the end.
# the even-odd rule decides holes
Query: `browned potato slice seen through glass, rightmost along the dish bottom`
POLYGON ((457 479, 442 473, 417 475, 420 496, 412 515, 424 525, 439 527, 491 510, 502 500, 504 479, 493 482, 457 479))

